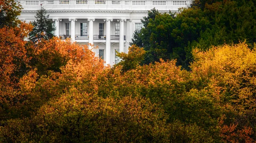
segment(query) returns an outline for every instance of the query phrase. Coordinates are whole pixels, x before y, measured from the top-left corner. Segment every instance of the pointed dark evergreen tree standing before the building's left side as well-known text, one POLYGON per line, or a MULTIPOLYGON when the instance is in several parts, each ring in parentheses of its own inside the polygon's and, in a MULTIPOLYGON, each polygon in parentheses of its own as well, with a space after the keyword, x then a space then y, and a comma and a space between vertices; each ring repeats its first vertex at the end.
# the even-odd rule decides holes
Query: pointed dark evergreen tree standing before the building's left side
POLYGON ((55 27, 52 26, 52 20, 49 19, 49 14, 46 15, 46 10, 41 8, 37 11, 35 15, 36 21, 32 22, 34 26, 33 30, 30 33, 30 40, 32 42, 40 41, 41 39, 51 39, 54 34, 52 31, 55 31, 55 27))

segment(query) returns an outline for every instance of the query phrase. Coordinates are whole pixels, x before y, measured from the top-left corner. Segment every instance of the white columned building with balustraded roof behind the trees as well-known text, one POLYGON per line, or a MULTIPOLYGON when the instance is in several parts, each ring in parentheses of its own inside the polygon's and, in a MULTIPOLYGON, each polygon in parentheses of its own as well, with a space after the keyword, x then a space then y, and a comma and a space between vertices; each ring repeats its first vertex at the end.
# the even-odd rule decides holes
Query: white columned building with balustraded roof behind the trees
POLYGON ((134 31, 142 28, 148 10, 178 11, 191 0, 17 0, 23 7, 20 20, 35 20, 42 7, 56 27, 55 35, 78 44, 91 43, 106 64, 119 62, 116 51, 128 52, 134 31))

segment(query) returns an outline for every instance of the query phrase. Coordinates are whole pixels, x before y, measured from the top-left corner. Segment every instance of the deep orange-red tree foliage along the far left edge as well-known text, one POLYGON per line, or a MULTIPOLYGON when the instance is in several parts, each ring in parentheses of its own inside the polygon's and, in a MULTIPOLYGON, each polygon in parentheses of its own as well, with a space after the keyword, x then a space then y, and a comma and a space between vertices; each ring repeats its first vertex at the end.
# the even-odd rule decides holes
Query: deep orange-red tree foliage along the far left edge
POLYGON ((18 79, 26 73, 28 66, 26 41, 32 25, 21 22, 18 27, 0 29, 0 104, 17 102, 18 79))

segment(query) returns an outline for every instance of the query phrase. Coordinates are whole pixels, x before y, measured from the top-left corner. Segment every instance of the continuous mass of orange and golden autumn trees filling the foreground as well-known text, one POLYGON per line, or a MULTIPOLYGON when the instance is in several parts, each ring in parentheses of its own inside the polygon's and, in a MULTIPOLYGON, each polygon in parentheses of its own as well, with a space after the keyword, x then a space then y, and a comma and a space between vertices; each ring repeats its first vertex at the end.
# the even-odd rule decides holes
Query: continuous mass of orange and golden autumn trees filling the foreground
POLYGON ((190 71, 178 59, 141 64, 148 50, 135 45, 106 67, 86 45, 57 37, 25 41, 32 25, 18 14, 0 28, 1 143, 256 141, 250 40, 192 48, 190 71))

